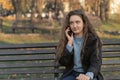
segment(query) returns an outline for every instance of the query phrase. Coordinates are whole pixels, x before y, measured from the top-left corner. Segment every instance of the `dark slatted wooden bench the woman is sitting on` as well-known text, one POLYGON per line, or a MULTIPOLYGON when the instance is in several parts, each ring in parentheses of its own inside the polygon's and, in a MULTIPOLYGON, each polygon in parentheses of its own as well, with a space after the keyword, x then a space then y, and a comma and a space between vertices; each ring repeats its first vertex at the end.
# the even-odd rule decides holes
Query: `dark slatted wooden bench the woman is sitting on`
MULTIPOLYGON (((64 70, 54 62, 57 43, 0 45, 0 80, 59 80, 64 70)), ((105 80, 120 80, 120 40, 103 42, 105 80)))

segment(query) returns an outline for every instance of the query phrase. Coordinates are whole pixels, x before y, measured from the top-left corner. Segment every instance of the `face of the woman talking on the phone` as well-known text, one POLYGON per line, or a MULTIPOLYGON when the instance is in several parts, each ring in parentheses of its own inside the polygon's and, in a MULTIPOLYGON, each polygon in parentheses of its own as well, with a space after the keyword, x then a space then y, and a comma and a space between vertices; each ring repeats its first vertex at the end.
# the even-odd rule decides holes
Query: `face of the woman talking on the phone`
POLYGON ((81 37, 83 35, 84 23, 80 16, 72 15, 70 17, 70 28, 75 36, 81 37))

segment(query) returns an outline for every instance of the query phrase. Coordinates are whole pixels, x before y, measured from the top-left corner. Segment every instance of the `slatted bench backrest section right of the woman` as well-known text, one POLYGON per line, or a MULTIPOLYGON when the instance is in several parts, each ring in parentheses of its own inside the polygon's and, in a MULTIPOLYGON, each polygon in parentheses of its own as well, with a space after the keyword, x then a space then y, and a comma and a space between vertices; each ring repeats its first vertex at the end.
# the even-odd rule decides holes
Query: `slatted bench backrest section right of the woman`
POLYGON ((105 80, 120 80, 120 40, 104 41, 102 55, 105 80))

